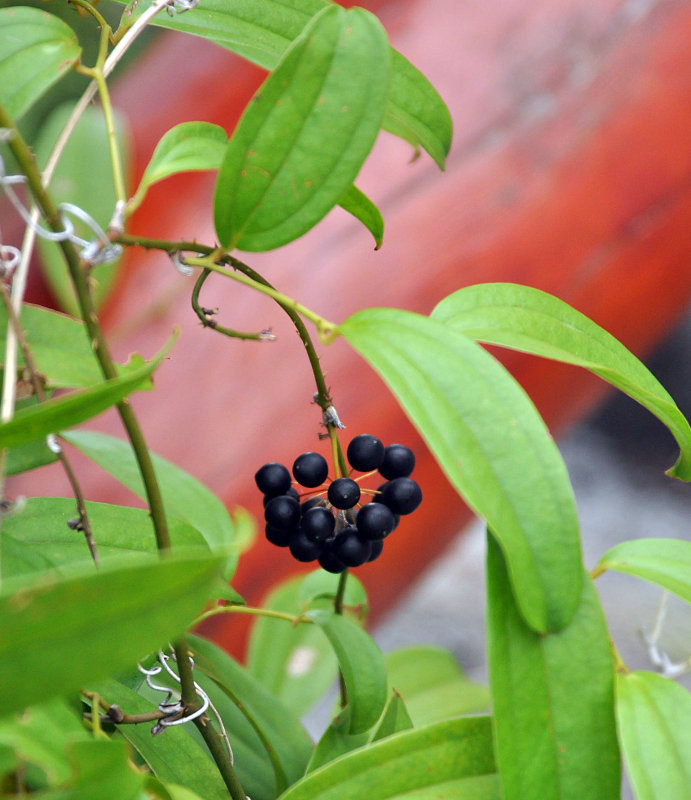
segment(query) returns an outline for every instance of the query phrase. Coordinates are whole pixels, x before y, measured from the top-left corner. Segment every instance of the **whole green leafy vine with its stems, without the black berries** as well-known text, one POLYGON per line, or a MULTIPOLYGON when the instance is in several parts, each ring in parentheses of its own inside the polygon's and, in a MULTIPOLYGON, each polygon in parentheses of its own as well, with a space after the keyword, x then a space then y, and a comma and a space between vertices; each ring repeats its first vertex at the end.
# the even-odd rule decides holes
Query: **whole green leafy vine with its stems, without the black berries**
MULTIPOLYGON (((689 481, 691 428, 664 388, 616 339, 530 287, 471 286, 443 298, 428 317, 371 308, 336 323, 235 255, 287 244, 336 205, 381 244, 381 215, 353 182, 382 128, 443 167, 451 123, 434 88, 391 49, 375 16, 327 0, 201 0, 199 8, 194 0, 140 0, 122 10, 116 30, 88 0, 72 5, 93 22, 93 66, 82 63, 68 22, 35 8, 0 10, 7 156, 0 185, 12 213, 26 222, 20 247, 0 242, 1 469, 4 476, 60 459, 75 494, 2 498, 3 795, 606 800, 620 793, 621 752, 638 798, 688 798, 691 698, 659 653, 667 674, 626 667, 610 643, 593 581, 618 570, 691 601, 691 544, 623 542, 586 571, 557 448, 528 397, 481 345, 576 364, 626 392, 669 427, 680 448, 669 474, 689 481), (230 139, 206 122, 168 131, 130 197, 107 78, 150 23, 221 44, 269 74, 230 139), (90 83, 40 171, 17 120, 71 69, 90 83), (105 231, 89 208, 61 202, 50 188, 96 93, 114 187, 105 231), (10 153, 13 174, 5 166, 10 153), (147 189, 185 170, 218 172, 217 242, 129 231, 147 189), (37 236, 59 244, 76 319, 23 303, 37 236), (148 362, 119 365, 100 325, 90 273, 130 247, 164 251, 181 271, 196 273, 194 312, 219 334, 271 336, 217 324, 199 303, 212 275, 262 292, 285 310, 312 366, 334 480, 349 468, 312 327, 321 345, 343 337, 380 374, 451 483, 487 522, 489 695, 441 651, 413 648, 385 658, 353 613, 366 607, 366 594, 347 569, 318 569, 279 587, 262 608, 246 606, 230 588, 242 519, 149 451, 128 402, 133 391, 150 388, 173 341, 148 362), (27 376, 29 397, 15 402, 27 376), (53 397, 56 389, 70 391, 53 397), (110 406, 119 412, 123 440, 71 430, 110 406), (86 501, 66 442, 144 497, 148 511, 86 501), (216 614, 256 617, 246 666, 190 633, 216 614), (318 657, 291 677, 286 665, 307 645, 318 657), (340 702, 314 744, 299 718, 336 665, 340 702)), ((336 503, 331 492, 329 498, 336 503)))

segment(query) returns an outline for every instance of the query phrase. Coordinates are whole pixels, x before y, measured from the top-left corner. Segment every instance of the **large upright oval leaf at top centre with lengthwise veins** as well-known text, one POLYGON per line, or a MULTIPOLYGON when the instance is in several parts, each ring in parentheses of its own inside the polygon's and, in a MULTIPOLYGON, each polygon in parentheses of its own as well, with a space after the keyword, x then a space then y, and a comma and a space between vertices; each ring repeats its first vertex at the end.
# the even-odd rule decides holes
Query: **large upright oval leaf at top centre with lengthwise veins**
POLYGON ((231 137, 214 199, 220 243, 271 250, 337 205, 372 149, 389 80, 376 17, 335 5, 317 14, 231 137))

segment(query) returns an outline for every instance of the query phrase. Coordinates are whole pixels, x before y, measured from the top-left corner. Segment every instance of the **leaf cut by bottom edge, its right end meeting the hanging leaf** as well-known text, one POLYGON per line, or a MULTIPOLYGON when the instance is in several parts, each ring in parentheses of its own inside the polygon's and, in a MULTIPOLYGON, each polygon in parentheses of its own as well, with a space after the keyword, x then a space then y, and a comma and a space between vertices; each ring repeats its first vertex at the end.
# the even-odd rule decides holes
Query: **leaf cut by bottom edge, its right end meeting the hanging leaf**
POLYGON ((280 800, 356 797, 500 800, 490 718, 458 718, 389 736, 311 772, 280 800))

